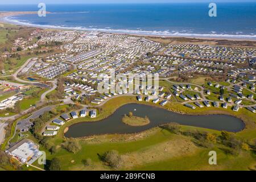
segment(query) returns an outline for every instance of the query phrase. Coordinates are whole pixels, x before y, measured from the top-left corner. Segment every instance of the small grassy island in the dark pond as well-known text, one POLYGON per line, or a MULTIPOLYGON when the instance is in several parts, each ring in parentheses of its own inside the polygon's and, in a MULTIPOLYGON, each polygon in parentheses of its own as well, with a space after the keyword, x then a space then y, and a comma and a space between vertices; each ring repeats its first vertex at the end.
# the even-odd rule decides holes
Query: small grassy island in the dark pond
POLYGON ((150 119, 148 119, 148 117, 142 118, 134 116, 133 113, 130 112, 129 115, 125 114, 123 116, 122 122, 130 126, 144 126, 150 123, 150 119))

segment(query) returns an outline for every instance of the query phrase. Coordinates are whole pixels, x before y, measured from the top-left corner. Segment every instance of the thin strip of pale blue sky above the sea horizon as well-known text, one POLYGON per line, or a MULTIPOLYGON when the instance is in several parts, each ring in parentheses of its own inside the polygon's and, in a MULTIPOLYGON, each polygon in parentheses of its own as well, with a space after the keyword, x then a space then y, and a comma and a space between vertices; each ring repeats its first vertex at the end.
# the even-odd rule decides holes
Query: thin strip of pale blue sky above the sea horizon
POLYGON ((171 2, 256 2, 256 0, 0 0, 0 4, 43 3, 171 3, 171 2))

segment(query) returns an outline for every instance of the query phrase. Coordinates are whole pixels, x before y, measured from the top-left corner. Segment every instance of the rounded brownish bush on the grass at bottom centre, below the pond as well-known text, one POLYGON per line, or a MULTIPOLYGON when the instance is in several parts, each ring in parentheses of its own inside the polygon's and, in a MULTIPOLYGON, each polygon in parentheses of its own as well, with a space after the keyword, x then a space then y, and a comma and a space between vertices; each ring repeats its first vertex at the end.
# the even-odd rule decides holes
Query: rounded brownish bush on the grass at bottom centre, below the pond
POLYGON ((109 164, 109 166, 115 169, 121 166, 121 156, 118 154, 118 151, 107 151, 104 154, 103 159, 109 164))

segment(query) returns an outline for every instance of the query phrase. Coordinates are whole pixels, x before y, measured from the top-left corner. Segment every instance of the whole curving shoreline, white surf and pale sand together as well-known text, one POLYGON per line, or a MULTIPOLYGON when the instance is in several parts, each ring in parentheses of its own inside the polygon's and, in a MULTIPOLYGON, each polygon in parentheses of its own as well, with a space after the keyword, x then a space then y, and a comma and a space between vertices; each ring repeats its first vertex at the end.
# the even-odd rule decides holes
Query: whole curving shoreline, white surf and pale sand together
MULTIPOLYGON (((32 24, 32 23, 24 23, 19 22, 18 20, 10 20, 8 19, 11 16, 15 15, 24 15, 24 14, 37 14, 37 11, 7 11, 7 12, 0 12, 0 23, 8 23, 14 24, 19 26, 26 26, 26 27, 36 27, 42 29, 53 29, 53 30, 76 30, 76 31, 98 31, 102 33, 109 33, 114 35, 131 35, 131 36, 143 36, 143 37, 150 37, 150 38, 188 38, 188 39, 201 39, 201 40, 230 40, 230 41, 250 41, 256 42, 255 35, 223 35, 223 34, 191 34, 191 35, 168 35, 168 34, 154 34, 150 31, 141 31, 135 32, 136 30, 108 30, 103 28, 78 28, 78 27, 60 27, 60 26, 53 26, 53 25, 39 25, 39 24, 32 24), (237 37, 232 37, 237 36, 237 37), (240 36, 240 37, 239 37, 240 36), (243 38, 243 36, 245 36, 243 38), (246 38, 246 36, 255 36, 255 38, 246 38)), ((47 12, 47 14, 51 14, 51 12, 47 12)))

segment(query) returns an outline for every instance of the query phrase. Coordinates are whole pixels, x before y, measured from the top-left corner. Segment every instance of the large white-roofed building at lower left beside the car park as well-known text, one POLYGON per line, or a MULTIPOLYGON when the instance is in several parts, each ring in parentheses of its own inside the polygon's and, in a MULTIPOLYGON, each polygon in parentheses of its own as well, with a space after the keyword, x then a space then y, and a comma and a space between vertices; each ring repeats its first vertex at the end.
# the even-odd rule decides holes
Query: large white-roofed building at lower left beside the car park
POLYGON ((42 152, 39 151, 39 146, 28 139, 21 140, 5 152, 18 159, 21 163, 34 162, 42 155, 42 152))

